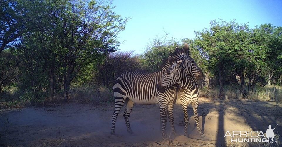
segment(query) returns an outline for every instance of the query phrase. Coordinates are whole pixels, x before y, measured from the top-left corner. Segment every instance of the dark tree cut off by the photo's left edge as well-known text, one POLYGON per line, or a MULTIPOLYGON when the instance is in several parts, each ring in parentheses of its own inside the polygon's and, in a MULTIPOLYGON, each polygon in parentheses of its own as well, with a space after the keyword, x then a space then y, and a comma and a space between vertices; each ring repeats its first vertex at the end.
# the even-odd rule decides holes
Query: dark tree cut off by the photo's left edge
POLYGON ((17 0, 0 1, 0 94, 4 83, 10 79, 18 62, 9 48, 25 32, 24 7, 17 0), (6 50, 3 52, 3 50, 6 50))

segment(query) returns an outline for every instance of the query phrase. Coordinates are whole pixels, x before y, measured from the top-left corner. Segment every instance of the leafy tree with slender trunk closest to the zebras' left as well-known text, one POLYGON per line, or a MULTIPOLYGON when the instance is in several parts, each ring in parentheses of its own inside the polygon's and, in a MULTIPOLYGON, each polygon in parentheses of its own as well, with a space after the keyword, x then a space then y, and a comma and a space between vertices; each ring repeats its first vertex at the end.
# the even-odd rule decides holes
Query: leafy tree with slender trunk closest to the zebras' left
POLYGON ((116 15, 104 1, 67 1, 57 16, 55 38, 58 40, 59 60, 62 61, 64 99, 78 74, 98 56, 116 51, 120 44, 117 34, 128 18, 116 15))

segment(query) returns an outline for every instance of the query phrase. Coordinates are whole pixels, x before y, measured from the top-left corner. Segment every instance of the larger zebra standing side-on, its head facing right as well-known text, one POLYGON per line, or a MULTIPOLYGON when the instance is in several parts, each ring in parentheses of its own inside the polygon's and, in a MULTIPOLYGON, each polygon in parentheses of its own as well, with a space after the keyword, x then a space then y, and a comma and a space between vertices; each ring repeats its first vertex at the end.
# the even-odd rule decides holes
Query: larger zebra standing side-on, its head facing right
MULTIPOLYGON (((197 64, 189 56, 189 46, 187 43, 184 44, 183 49, 179 50, 176 48, 173 53, 169 55, 168 59, 182 60, 185 58, 185 62, 182 62, 181 67, 196 78, 202 77, 202 70, 199 69, 197 64)), ((177 86, 171 86, 164 90, 164 92, 157 91, 157 83, 161 79, 163 73, 171 65, 169 60, 164 60, 161 70, 153 73, 143 72, 124 72, 122 73, 113 86, 113 92, 115 97, 115 110, 112 115, 112 128, 111 134, 115 134, 115 122, 120 109, 126 104, 123 117, 127 127, 127 132, 132 134, 132 130, 129 123, 130 113, 134 104, 159 104, 160 108, 160 119, 162 122, 162 136, 165 138, 165 126, 167 121, 167 111, 169 114, 170 126, 172 133, 176 134, 173 119, 173 100, 176 98, 177 86)))

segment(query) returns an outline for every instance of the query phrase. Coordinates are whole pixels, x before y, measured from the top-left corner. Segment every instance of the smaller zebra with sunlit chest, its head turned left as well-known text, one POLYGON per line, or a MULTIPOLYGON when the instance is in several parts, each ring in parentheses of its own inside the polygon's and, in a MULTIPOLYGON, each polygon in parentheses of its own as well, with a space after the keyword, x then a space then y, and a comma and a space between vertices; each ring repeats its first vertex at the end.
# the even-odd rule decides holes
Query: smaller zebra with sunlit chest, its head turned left
MULTIPOLYGON (((174 59, 173 59, 174 60, 174 59)), ((182 105, 182 110, 184 113, 184 122, 185 122, 185 135, 188 135, 188 110, 187 106, 192 104, 194 111, 194 118, 197 125, 197 131, 200 134, 200 137, 203 138, 205 135, 202 133, 199 116, 198 116, 198 97, 199 97, 199 87, 196 79, 188 75, 182 68, 181 63, 183 60, 175 61, 174 64, 170 66, 165 73, 163 74, 161 80, 157 84, 157 89, 160 92, 164 92, 165 89, 178 84, 181 88, 177 89, 177 99, 175 100, 176 104, 182 105)))

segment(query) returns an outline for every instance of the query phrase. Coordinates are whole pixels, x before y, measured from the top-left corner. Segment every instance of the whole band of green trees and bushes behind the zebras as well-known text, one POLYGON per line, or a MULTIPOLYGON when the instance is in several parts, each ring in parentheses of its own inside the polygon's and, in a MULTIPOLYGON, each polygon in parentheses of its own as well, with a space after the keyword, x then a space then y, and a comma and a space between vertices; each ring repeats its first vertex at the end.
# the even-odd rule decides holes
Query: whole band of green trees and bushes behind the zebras
MULTIPOLYGON (((21 101, 41 104, 47 95, 53 100, 54 94, 63 91, 67 99, 78 87, 98 83, 106 86, 96 90, 103 93, 98 101, 111 103, 109 87, 118 75, 157 71, 169 53, 181 47, 180 41, 168 39, 166 33, 150 40, 143 55, 113 54, 120 45, 117 35, 129 18, 117 15, 111 4, 103 0, 1 1, 0 97, 10 98, 14 88, 23 95, 15 103, 8 100, 11 105, 21 101)), ((195 34, 195 39, 182 42, 189 43, 192 58, 204 72, 204 95, 224 96, 224 85, 233 85, 239 92, 225 89, 226 99, 234 93, 250 97, 256 87, 270 81, 282 85, 282 27, 250 28, 219 19, 195 34), (215 79, 213 86, 220 86, 209 93, 210 78, 215 79)))

